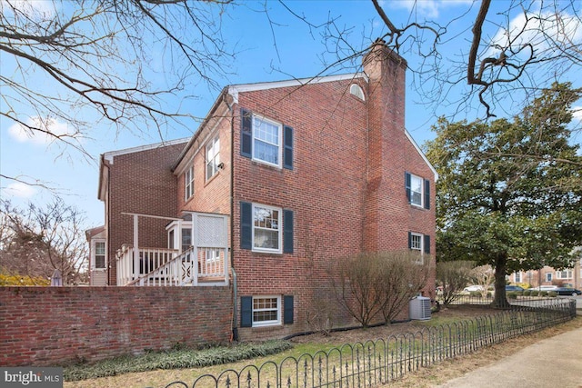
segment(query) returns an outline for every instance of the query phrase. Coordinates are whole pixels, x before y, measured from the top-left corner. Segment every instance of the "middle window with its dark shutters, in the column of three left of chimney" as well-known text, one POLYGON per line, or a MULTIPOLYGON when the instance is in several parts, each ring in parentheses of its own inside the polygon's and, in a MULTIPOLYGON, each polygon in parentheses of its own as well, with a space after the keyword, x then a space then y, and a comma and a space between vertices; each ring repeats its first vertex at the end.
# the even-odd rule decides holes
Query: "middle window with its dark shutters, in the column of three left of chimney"
POLYGON ((253 252, 293 253, 293 211, 240 203, 240 247, 253 252))

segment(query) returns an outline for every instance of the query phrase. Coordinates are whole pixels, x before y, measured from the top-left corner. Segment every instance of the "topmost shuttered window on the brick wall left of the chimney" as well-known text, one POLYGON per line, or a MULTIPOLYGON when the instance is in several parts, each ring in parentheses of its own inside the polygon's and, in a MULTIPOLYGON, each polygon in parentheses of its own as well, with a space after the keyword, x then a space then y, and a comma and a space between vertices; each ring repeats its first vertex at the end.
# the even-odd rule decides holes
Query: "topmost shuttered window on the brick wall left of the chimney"
POLYGON ((293 128, 241 109, 240 153, 252 160, 293 169, 293 128))

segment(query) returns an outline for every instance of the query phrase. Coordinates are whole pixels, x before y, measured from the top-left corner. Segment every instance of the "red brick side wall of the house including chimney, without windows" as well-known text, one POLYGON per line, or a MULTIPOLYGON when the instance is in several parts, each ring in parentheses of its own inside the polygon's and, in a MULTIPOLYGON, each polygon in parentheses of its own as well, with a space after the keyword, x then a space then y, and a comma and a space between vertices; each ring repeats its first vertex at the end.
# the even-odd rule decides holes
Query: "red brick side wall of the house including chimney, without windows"
MULTIPOLYGON (((238 95, 233 223, 239 225, 241 201, 291 209, 295 217, 294 254, 242 250, 240 229, 234 228, 239 296, 295 298, 293 325, 241 329, 241 339, 312 330, 307 321, 314 313, 324 313, 314 311, 316 305, 325 309, 336 303, 329 270, 337 260, 362 251, 407 249, 409 231, 429 234, 435 252, 434 182, 430 210, 417 209, 406 200, 405 171, 431 181, 434 174, 406 138, 406 65, 398 62, 401 58, 394 59, 368 65, 369 84, 357 78, 238 95), (366 101, 350 95, 353 82, 362 86, 366 101), (292 171, 240 155, 241 107, 294 128, 292 171)), ((430 293, 434 274, 426 287, 430 293)), ((341 311, 333 320, 335 327, 354 323, 341 311)))

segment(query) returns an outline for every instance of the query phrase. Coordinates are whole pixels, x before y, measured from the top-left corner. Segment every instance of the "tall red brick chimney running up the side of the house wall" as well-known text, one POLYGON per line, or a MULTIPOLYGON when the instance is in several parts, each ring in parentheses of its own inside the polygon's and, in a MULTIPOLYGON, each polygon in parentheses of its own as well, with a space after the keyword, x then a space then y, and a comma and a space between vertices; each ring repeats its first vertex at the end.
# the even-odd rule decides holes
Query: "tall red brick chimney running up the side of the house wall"
POLYGON ((364 251, 406 248, 404 189, 406 61, 376 40, 363 59, 367 89, 368 153, 364 251), (397 230, 396 230, 397 229, 397 230), (402 236, 400 235, 402 234, 402 236))

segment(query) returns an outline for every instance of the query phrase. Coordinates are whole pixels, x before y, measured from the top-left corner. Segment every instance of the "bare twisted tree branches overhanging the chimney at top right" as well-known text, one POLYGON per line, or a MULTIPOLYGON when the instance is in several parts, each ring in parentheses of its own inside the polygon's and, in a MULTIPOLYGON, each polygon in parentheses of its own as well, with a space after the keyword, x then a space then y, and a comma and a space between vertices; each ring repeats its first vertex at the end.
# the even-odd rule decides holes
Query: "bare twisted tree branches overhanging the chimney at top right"
POLYGON ((582 65, 576 0, 362 3, 375 10, 381 27, 353 25, 340 15, 316 23, 300 5, 285 6, 321 35, 322 71, 353 68, 376 39, 384 40, 406 59, 418 103, 436 115, 444 107, 460 115, 450 119, 516 114, 552 83, 573 81, 582 65), (408 17, 396 18, 394 9, 405 4, 412 5, 408 17), (446 8, 447 16, 426 15, 429 5, 446 8))

